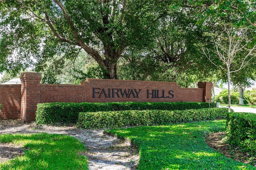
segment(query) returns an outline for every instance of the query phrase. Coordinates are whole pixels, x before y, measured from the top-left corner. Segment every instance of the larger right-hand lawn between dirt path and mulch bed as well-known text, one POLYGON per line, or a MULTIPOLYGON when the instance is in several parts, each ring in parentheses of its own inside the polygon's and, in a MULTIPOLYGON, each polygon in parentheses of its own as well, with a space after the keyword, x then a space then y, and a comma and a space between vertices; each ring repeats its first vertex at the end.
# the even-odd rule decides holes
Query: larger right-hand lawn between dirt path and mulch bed
POLYGON ((170 126, 106 130, 139 148, 140 170, 241 170, 256 167, 236 162, 204 142, 209 132, 224 131, 224 120, 170 126))

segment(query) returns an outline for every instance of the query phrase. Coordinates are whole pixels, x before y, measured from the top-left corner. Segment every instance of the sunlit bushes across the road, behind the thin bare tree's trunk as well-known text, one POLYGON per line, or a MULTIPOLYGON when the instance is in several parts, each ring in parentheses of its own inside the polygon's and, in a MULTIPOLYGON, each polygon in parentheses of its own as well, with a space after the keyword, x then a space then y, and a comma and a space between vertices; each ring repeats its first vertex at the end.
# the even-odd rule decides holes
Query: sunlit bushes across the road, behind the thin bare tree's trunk
MULTIPOLYGON (((230 94, 231 104, 239 104, 239 93, 231 91, 230 94)), ((223 90, 216 97, 216 102, 228 104, 228 90, 223 90)), ((244 101, 246 103, 246 101, 244 101)))

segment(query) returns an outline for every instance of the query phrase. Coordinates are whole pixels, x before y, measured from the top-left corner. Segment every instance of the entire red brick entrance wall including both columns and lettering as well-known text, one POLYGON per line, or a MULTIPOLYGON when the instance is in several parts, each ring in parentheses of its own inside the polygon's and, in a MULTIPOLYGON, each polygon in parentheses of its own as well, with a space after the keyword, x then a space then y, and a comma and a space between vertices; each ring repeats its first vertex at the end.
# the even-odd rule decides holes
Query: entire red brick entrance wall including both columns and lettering
POLYGON ((40 73, 20 75, 21 85, 0 85, 0 119, 35 120, 37 103, 211 102, 211 82, 181 88, 174 82, 86 79, 80 85, 40 84, 40 73))

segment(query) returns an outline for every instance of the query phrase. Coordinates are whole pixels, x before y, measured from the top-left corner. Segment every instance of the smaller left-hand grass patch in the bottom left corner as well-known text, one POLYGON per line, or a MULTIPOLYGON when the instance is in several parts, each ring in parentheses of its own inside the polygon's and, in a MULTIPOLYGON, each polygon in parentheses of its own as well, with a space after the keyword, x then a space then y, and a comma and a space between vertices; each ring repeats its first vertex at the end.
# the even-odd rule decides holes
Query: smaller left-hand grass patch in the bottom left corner
POLYGON ((0 163, 0 170, 86 170, 82 142, 59 134, 1 134, 0 142, 21 144, 25 154, 0 163))

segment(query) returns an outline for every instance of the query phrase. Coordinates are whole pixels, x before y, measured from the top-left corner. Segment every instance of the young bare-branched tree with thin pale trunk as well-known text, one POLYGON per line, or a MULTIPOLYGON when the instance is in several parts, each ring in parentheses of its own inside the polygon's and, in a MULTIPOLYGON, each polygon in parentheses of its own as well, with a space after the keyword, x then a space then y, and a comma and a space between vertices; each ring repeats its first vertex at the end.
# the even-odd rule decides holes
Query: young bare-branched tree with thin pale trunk
POLYGON ((230 74, 241 71, 255 62, 256 44, 247 35, 247 28, 236 29, 224 24, 224 32, 211 35, 215 49, 202 50, 213 65, 226 71, 228 80, 228 105, 230 112, 230 74))

